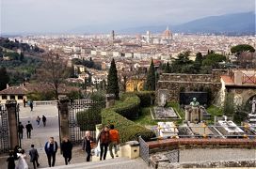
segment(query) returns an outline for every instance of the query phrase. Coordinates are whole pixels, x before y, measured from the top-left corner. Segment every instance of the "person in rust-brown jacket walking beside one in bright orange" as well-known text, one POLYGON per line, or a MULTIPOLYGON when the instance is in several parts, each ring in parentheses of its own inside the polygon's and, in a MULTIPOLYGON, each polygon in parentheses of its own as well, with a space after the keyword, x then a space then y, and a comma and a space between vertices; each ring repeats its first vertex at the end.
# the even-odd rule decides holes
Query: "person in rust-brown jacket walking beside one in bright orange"
POLYGON ((109 145, 109 127, 105 126, 103 131, 101 131, 97 137, 97 145, 100 142, 101 147, 101 155, 100 155, 100 161, 102 161, 103 156, 104 160, 107 153, 107 146, 109 145))

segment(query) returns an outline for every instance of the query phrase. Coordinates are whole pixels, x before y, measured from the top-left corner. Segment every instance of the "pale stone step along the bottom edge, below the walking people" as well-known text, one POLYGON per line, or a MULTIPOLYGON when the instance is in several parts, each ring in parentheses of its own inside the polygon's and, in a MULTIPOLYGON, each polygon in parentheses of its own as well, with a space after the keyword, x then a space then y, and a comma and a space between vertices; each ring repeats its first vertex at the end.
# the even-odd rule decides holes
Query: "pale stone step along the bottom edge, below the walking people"
POLYGON ((140 158, 135 160, 130 160, 128 158, 116 158, 108 159, 105 161, 90 161, 75 163, 69 165, 56 166, 55 169, 87 169, 87 168, 97 168, 97 169, 150 169, 151 167, 140 158))

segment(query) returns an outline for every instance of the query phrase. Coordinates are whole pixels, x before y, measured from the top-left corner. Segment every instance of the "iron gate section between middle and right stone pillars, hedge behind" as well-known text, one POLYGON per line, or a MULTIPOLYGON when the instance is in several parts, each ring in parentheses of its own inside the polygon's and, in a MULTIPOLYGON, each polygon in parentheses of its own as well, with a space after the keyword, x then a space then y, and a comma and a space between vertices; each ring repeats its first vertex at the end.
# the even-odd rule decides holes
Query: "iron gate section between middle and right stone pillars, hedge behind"
POLYGON ((95 125, 102 123, 101 110, 104 100, 71 100, 69 104, 69 128, 73 145, 81 144, 86 131, 96 138, 95 125))

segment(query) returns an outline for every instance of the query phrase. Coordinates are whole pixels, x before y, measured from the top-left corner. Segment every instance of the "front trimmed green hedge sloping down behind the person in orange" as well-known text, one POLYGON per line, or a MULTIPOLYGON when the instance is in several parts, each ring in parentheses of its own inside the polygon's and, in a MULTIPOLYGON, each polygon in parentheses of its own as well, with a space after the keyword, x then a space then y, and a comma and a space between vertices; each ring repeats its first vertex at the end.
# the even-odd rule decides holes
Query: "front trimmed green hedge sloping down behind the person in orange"
POLYGON ((155 137, 155 134, 151 130, 117 114, 112 108, 102 111, 102 123, 104 125, 113 124, 120 131, 121 143, 137 140, 138 136, 141 136, 146 141, 150 141, 152 137, 155 137))

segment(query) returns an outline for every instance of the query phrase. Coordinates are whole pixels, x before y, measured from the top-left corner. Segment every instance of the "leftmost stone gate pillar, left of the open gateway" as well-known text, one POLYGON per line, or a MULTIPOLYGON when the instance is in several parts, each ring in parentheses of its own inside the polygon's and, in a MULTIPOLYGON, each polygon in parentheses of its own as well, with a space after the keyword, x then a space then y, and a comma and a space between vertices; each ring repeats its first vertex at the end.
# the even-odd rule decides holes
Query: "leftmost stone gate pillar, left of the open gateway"
POLYGON ((19 145, 18 138, 18 121, 17 121, 17 102, 16 100, 7 100, 6 103, 8 110, 8 135, 9 135, 9 147, 14 149, 14 146, 19 145))

